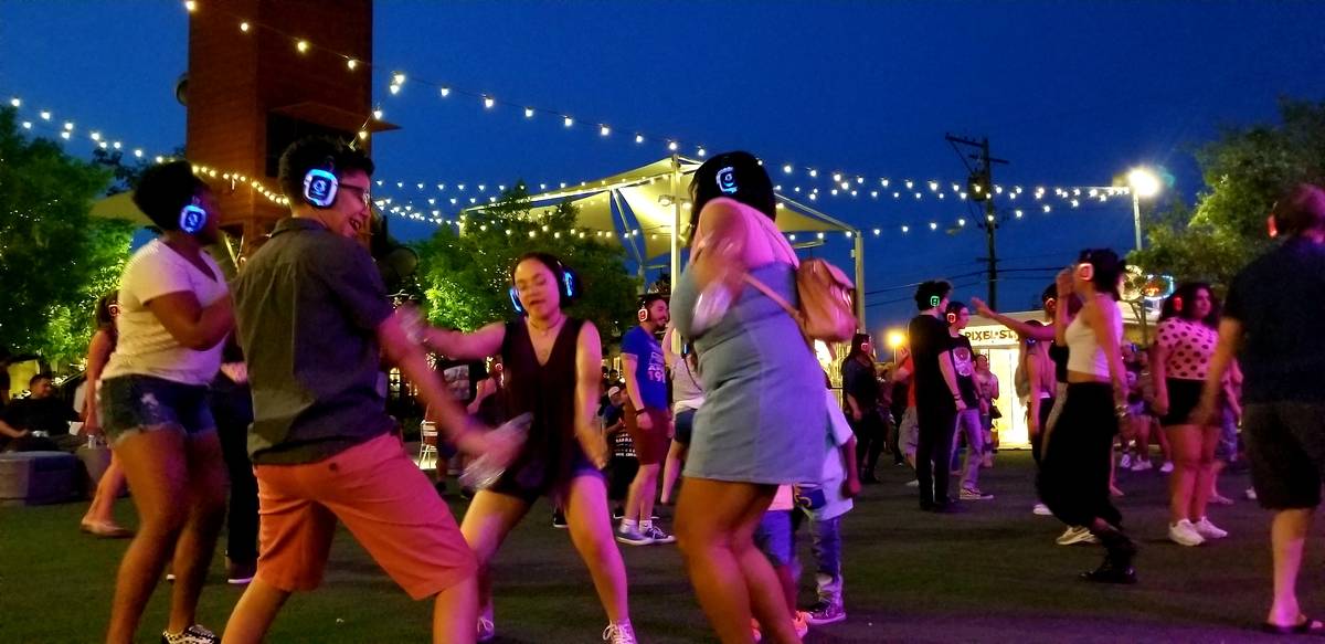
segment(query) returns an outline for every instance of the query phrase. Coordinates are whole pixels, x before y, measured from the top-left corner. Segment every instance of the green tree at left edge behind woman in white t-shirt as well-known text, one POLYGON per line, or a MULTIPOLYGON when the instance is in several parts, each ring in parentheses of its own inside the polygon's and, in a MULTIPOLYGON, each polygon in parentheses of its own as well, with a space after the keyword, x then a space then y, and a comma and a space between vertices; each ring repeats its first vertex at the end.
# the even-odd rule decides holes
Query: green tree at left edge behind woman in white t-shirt
POLYGON ((93 305, 114 288, 132 225, 91 220, 111 172, 26 139, 0 110, 0 349, 77 362, 93 305))

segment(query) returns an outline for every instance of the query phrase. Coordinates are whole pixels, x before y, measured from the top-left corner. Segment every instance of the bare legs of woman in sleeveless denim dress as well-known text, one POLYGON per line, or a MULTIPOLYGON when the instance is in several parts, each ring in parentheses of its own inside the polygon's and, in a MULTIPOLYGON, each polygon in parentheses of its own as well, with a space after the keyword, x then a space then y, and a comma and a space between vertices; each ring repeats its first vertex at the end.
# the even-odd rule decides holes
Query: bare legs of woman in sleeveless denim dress
POLYGON ((770 641, 796 643, 772 566, 754 546, 776 488, 688 478, 677 502, 681 553, 709 623, 725 644, 751 641, 751 610, 770 641))

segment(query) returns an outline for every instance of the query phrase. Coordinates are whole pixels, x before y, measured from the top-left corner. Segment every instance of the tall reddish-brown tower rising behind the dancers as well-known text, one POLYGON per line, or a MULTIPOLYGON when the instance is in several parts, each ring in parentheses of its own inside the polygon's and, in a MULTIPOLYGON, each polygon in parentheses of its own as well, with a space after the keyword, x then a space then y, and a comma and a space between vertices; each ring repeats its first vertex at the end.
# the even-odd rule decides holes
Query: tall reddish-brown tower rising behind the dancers
POLYGON ((310 134, 367 146, 362 130, 392 127, 371 118, 371 70, 346 57, 372 60, 371 0, 209 0, 189 15, 186 155, 216 170, 221 225, 242 254, 289 213, 252 186, 281 196, 286 146, 310 134))

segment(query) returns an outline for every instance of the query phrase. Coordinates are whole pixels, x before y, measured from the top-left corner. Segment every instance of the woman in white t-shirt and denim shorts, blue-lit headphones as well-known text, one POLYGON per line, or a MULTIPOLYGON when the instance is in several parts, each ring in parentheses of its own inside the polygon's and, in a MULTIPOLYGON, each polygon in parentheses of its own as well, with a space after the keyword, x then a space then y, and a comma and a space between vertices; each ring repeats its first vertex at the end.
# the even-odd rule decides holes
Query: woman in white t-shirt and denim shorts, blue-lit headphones
POLYGON ((219 641, 195 612, 225 515, 225 461, 207 384, 235 318, 225 276, 203 252, 219 239, 220 213, 187 162, 150 168, 134 203, 162 235, 125 266, 119 341, 97 395, 140 523, 119 566, 106 641, 135 639, 171 553, 175 590, 162 641, 219 641))

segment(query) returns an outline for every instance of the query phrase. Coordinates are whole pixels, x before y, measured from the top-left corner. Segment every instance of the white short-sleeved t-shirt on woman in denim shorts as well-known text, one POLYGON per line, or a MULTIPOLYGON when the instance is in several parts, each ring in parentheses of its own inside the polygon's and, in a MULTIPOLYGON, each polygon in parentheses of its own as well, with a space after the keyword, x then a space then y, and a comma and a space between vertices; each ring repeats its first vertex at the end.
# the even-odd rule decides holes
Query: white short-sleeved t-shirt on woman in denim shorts
POLYGON ((207 306, 225 297, 225 276, 207 253, 203 261, 212 269, 207 276, 192 262, 152 240, 139 248, 119 278, 119 317, 115 326, 119 342, 101 376, 147 375, 184 384, 208 384, 221 366, 224 342, 204 351, 180 346, 147 302, 170 293, 192 293, 207 306))

